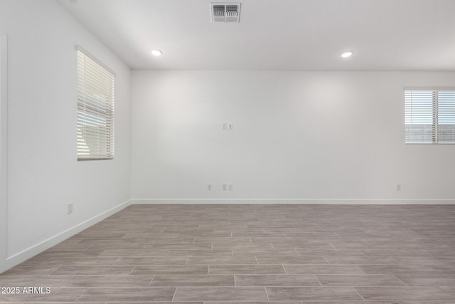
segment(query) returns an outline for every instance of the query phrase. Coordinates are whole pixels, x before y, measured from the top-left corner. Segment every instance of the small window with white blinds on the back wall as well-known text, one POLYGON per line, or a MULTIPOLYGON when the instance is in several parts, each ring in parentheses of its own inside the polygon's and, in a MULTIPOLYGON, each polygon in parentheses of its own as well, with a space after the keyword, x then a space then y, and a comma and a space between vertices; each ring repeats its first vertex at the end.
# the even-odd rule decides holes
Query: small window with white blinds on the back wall
POLYGON ((455 88, 405 88, 405 143, 455 144, 455 88))

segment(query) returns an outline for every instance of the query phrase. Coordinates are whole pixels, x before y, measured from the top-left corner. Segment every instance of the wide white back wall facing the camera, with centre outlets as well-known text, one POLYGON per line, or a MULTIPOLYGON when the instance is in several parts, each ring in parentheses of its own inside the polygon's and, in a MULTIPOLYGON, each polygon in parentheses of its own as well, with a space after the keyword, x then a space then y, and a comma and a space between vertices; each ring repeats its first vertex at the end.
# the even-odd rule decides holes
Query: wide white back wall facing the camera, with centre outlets
POLYGON ((454 79, 134 70, 133 201, 454 203, 455 145, 405 145, 403 91, 454 79))

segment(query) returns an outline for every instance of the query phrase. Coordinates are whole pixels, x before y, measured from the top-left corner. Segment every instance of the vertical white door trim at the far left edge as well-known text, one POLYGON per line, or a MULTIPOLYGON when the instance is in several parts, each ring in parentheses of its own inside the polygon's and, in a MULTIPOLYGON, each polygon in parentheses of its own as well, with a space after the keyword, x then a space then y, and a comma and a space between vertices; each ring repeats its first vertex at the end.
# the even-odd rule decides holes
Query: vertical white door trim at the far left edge
POLYGON ((0 273, 8 245, 8 38, 0 35, 0 273))

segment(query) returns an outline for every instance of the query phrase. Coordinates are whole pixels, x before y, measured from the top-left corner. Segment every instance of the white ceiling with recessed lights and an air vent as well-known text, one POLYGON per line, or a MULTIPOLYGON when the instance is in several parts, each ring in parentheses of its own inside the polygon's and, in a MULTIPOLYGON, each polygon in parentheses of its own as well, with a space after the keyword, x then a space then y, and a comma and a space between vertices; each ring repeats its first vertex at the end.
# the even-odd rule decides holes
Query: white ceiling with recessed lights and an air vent
POLYGON ((237 0, 240 23, 210 0, 58 2, 133 69, 455 70, 455 0, 237 0))

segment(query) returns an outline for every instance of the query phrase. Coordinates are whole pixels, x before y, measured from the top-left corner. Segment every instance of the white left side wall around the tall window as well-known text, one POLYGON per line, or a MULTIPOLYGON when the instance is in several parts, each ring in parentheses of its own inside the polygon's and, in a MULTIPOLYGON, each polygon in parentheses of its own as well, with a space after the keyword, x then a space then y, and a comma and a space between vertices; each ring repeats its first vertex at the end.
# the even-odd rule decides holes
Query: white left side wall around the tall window
POLYGON ((11 267, 129 203, 131 70, 53 0, 0 1, 1 33, 9 42, 11 267), (76 159, 76 44, 117 73, 113 160, 76 159))

